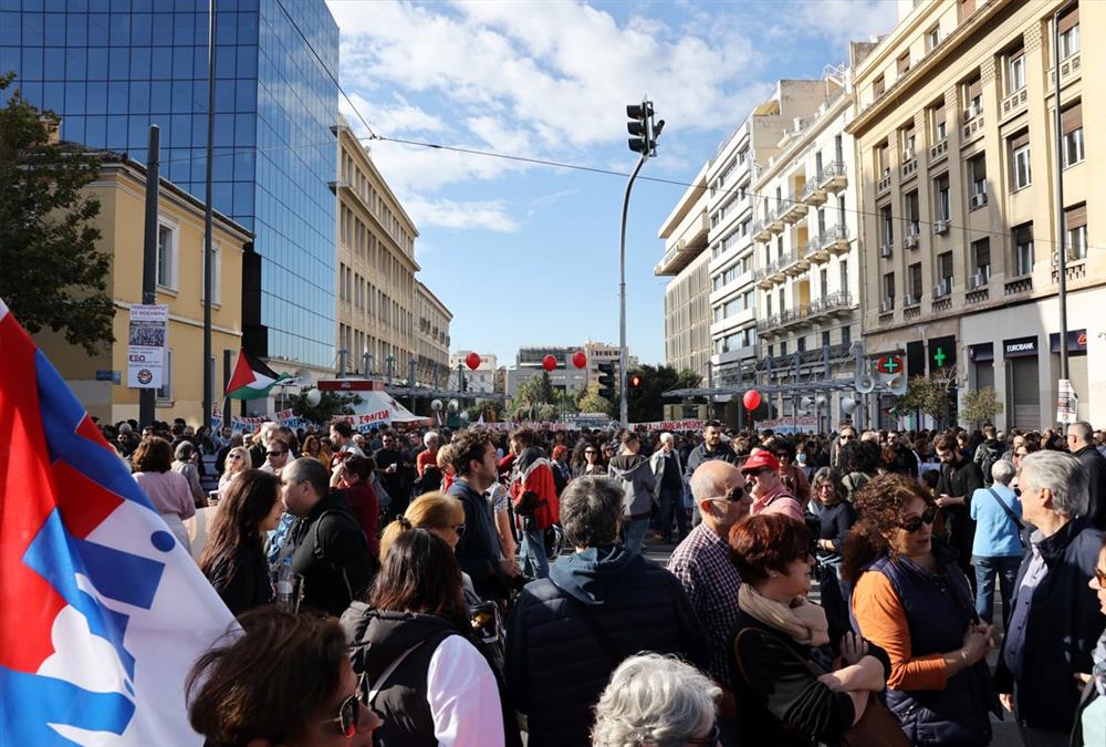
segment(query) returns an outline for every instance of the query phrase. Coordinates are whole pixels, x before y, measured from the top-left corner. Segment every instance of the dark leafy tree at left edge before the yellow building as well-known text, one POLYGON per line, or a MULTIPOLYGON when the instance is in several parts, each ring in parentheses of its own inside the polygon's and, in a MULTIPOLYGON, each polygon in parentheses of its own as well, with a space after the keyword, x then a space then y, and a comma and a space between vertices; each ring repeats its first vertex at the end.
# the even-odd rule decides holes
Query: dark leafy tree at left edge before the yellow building
MULTIPOLYGON (((0 75, 0 92, 14 79, 0 75)), ((91 224, 100 203, 83 194, 100 162, 51 143, 59 124, 18 89, 0 108, 0 298, 32 334, 64 331, 70 344, 95 355, 115 339, 112 257, 97 249, 101 234, 91 224)))

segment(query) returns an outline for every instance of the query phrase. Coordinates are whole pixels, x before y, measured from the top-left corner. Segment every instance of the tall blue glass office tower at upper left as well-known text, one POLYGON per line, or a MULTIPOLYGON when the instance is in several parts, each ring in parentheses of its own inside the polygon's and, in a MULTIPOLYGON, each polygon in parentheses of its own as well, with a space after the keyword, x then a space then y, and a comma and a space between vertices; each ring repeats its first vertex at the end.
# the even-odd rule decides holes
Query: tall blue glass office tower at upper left
MULTIPOLYGON (((255 235, 244 344, 334 367, 338 28, 324 0, 218 0, 215 209, 255 235), (302 35, 301 35, 302 34, 302 35)), ((0 71, 61 137, 145 162, 205 198, 207 0, 0 0, 0 71)))

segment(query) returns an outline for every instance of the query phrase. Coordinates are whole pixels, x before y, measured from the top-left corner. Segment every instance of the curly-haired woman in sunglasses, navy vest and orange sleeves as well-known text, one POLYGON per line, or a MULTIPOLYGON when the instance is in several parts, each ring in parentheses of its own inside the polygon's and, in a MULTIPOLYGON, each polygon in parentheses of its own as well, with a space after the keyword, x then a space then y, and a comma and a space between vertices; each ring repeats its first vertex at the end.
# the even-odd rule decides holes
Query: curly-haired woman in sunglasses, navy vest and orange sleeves
POLYGON ((991 741, 999 713, 980 621, 956 553, 933 538, 937 506, 917 480, 880 475, 856 495, 842 568, 855 625, 887 651, 887 706, 911 744, 991 741))

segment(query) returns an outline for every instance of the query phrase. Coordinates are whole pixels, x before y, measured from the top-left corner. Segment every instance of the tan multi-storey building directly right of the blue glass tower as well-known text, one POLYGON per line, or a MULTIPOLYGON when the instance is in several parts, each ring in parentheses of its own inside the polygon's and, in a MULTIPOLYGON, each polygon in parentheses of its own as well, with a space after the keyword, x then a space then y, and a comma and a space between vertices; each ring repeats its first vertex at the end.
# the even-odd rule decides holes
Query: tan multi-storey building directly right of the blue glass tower
MULTIPOLYGON (((338 178, 331 186, 338 197, 335 268, 338 351, 345 351, 347 370, 407 378, 410 362, 416 361, 417 365, 415 273, 419 266, 415 261, 415 238, 418 230, 368 151, 343 117, 337 122, 334 131, 338 139, 338 178)), ((431 322, 431 331, 432 328, 431 322)))

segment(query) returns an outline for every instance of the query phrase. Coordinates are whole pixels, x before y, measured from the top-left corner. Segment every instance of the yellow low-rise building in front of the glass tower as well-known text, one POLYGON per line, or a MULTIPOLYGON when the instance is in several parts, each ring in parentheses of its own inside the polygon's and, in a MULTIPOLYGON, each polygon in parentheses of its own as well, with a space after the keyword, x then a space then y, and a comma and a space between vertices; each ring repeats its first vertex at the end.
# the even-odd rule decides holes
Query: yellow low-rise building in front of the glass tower
MULTIPOLYGON (((146 169, 123 154, 103 154, 98 178, 85 191, 100 200, 92 221, 101 231, 100 248, 112 258, 107 292, 115 302, 114 343, 90 356, 43 330, 35 343, 88 411, 105 423, 138 418, 140 390, 127 387, 127 325, 132 305, 142 303, 146 169)), ((161 180, 158 195, 158 243, 155 303, 169 307, 168 340, 155 417, 204 422, 204 204, 161 180)), ((216 396, 221 394, 223 351, 231 365, 242 341, 242 255, 252 236, 216 212, 211 230, 211 351, 216 396)))

